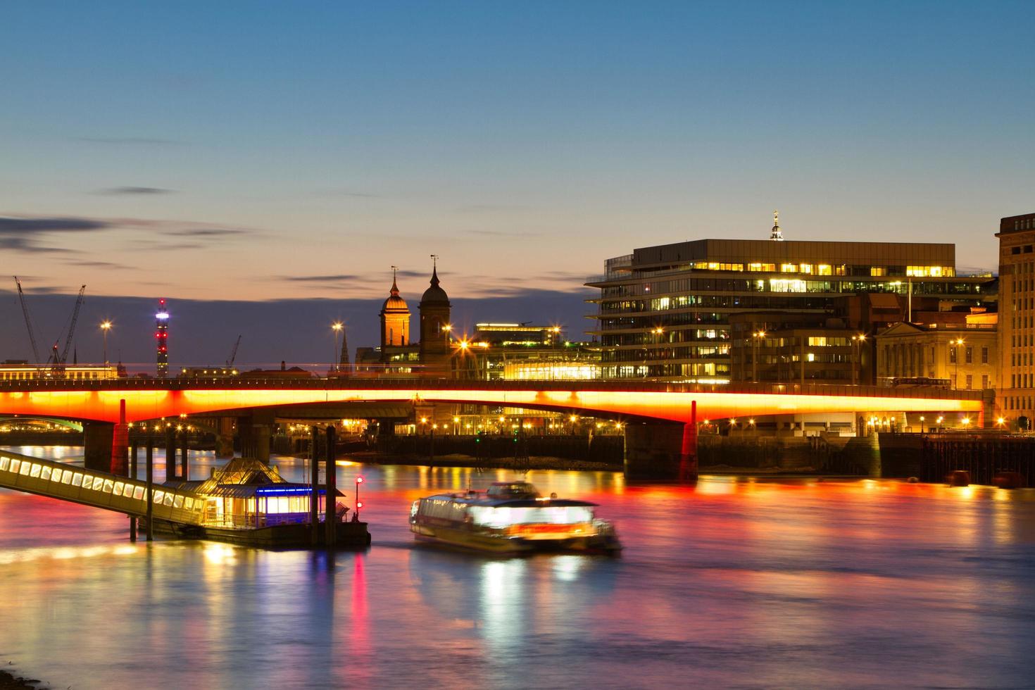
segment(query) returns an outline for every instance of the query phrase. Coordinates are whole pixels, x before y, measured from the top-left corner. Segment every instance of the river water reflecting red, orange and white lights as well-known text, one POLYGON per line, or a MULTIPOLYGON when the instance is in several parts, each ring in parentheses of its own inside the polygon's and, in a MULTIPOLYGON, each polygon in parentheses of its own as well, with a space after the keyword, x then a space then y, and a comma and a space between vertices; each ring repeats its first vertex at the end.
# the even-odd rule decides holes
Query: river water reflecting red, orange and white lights
POLYGON ((513 473, 345 463, 350 506, 360 473, 374 545, 333 557, 130 544, 124 516, 0 490, 0 665, 56 688, 1035 686, 1029 489, 531 472, 625 551, 498 559, 416 546, 407 517, 513 473))

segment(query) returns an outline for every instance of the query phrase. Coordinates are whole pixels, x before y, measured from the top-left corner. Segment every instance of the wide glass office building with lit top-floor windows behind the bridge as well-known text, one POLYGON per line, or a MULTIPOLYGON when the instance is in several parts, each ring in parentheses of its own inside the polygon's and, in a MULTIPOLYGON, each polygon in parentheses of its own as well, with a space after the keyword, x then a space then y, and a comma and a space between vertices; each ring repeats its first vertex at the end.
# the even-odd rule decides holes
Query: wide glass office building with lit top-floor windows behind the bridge
POLYGON ((769 240, 693 240, 609 259, 604 274, 586 282, 600 290, 591 301, 602 378, 724 384, 734 377, 734 314, 839 318, 869 336, 903 320, 901 306, 981 305, 993 280, 959 275, 952 244, 794 241, 778 231, 769 240))

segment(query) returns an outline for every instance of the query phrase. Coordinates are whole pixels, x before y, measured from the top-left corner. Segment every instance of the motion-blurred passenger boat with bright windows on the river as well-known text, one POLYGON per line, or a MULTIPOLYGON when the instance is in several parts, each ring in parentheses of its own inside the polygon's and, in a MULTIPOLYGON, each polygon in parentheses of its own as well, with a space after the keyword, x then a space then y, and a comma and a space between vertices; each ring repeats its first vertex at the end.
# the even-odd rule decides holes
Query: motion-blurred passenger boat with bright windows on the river
POLYGON ((495 553, 617 553, 614 526, 595 517, 595 503, 542 497, 529 482, 495 482, 485 491, 418 499, 410 531, 419 541, 495 553))

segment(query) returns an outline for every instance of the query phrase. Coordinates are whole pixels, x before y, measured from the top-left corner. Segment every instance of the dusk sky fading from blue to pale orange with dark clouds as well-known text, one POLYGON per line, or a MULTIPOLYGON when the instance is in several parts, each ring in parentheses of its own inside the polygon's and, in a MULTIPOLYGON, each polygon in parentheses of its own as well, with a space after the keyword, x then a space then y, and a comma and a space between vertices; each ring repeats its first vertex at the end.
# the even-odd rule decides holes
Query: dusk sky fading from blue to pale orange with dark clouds
MULTIPOLYGON (((87 284, 90 353, 108 317, 146 357, 158 297, 268 307, 180 331, 209 362, 300 310, 255 361, 318 358, 346 314, 375 344, 390 267, 415 312, 431 254, 463 319, 582 337, 607 258, 764 239, 774 209, 788 239, 994 269, 998 219, 1035 211, 1032 26, 1032 2, 3 3, 0 265, 53 331, 87 284)), ((8 281, 0 359, 25 358, 8 281)))

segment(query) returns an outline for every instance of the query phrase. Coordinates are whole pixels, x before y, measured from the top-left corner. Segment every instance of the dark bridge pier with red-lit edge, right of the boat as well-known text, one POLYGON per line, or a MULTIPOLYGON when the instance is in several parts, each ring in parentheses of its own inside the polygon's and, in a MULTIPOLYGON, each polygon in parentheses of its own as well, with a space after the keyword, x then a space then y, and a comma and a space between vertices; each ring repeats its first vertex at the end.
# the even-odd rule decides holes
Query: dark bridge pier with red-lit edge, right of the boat
POLYGON ((625 478, 696 482, 696 431, 692 423, 626 424, 625 478))

